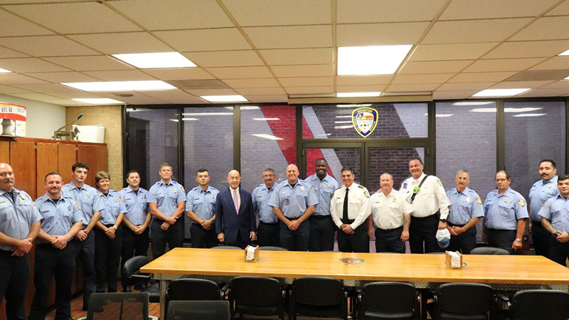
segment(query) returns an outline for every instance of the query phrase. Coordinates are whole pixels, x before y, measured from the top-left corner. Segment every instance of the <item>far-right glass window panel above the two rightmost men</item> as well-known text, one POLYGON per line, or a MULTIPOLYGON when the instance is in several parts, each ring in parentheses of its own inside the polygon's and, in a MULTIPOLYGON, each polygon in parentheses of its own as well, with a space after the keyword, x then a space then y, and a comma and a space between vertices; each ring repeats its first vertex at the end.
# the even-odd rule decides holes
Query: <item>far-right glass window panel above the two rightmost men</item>
POLYGON ((565 102, 505 102, 504 132, 510 187, 526 199, 539 161, 552 159, 565 173, 565 102))

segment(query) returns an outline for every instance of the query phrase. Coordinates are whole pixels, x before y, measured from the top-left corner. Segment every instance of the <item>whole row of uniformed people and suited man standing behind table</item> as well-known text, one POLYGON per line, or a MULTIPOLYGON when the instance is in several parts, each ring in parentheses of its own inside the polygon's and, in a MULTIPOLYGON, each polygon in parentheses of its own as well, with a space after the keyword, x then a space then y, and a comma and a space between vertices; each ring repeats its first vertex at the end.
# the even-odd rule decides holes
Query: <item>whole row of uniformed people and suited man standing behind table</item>
MULTIPOLYGON (((46 194, 33 201, 14 188, 14 171, 0 164, 0 301, 6 297, 8 319, 26 319, 24 299, 30 275, 28 254, 37 242, 34 279, 36 292, 29 319, 45 319, 48 292, 55 276, 55 319, 70 319, 71 277, 75 263, 83 264, 83 309, 92 292, 116 292, 119 263, 133 255, 154 259, 184 242, 184 213, 191 221, 191 247, 218 244, 246 247, 255 238, 261 246, 287 250, 331 251, 337 231, 341 252, 369 252, 370 238, 377 252, 438 252, 437 231, 451 235, 447 250, 463 254, 476 247, 476 225, 484 218, 483 238, 492 247, 511 253, 522 248, 529 218, 536 254, 565 265, 569 257, 569 176, 556 175, 555 162, 539 164, 542 179, 530 190, 529 203, 509 186, 505 170, 495 176, 496 190, 484 203, 468 188, 469 173, 457 171, 456 188, 445 192, 436 176, 423 172, 419 158, 409 161, 410 178, 399 191, 393 176, 384 173, 381 188, 370 196, 355 183, 353 169, 341 169, 339 186, 327 174, 325 159, 318 159, 316 173, 300 179, 294 164, 287 179, 275 183, 275 170, 262 172, 252 193, 240 188, 241 176, 229 171, 229 187, 209 186, 206 169, 196 173, 198 186, 188 191, 172 180, 172 166, 162 164, 160 181, 147 191, 139 187, 137 171, 126 176, 127 188, 110 190, 110 175, 95 175, 95 187, 87 186, 89 166, 72 167, 72 181, 63 184, 57 172, 44 178, 46 194), (530 210, 528 214, 528 208, 530 210), (258 220, 258 225, 257 225, 258 220)), ((123 291, 129 291, 123 284, 123 291)))

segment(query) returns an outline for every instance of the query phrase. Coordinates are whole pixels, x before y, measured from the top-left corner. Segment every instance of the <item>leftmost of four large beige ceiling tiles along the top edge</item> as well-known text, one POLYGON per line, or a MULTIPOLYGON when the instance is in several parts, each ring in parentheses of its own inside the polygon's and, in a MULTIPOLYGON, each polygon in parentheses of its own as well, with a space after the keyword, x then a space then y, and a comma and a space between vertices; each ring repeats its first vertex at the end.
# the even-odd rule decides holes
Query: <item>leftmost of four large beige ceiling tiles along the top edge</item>
POLYGON ((233 27, 215 0, 129 0, 108 5, 149 30, 233 27))

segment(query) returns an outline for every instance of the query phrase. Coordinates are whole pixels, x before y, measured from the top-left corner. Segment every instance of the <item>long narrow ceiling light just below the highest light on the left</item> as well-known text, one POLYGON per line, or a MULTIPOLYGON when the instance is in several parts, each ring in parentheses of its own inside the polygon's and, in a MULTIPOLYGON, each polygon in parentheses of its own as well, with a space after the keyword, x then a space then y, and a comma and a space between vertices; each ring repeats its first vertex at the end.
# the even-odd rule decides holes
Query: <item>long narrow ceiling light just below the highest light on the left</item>
POLYGON ((107 82, 65 82, 68 87, 83 91, 147 91, 147 90, 173 90, 173 85, 161 80, 146 81, 107 81, 107 82))

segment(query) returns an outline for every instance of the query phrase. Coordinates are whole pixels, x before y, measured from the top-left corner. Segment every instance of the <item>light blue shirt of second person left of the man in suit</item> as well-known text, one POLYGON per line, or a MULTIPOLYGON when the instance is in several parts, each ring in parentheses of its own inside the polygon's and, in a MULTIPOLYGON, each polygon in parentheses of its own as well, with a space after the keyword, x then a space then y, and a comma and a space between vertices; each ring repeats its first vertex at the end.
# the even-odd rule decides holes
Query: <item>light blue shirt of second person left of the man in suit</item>
POLYGON ((184 187, 176 181, 170 180, 168 184, 162 181, 154 183, 148 191, 148 203, 157 203, 158 210, 171 217, 178 208, 178 203, 186 201, 184 187))

